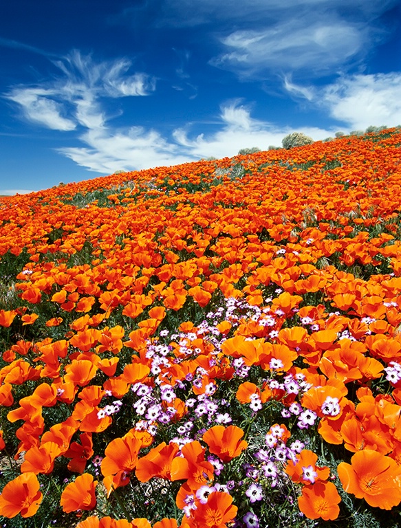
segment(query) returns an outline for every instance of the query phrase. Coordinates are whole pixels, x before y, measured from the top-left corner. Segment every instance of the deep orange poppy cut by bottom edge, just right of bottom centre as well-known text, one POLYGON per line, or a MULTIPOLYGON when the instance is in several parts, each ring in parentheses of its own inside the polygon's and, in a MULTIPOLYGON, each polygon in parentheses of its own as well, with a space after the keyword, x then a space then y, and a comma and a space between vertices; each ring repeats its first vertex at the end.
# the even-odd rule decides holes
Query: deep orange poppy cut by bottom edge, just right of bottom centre
POLYGON ((232 496, 223 492, 212 492, 208 502, 199 504, 193 511, 197 528, 226 528, 237 515, 237 506, 232 505, 232 496))

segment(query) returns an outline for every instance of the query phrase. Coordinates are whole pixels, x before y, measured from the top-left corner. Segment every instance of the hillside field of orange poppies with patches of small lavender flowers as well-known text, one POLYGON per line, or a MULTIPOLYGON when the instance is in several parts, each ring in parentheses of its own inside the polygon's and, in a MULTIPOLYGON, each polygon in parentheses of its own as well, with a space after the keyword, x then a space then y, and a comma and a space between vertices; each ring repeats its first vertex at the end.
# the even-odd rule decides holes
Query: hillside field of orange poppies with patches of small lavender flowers
POLYGON ((0 526, 396 528, 401 130, 0 200, 0 526))

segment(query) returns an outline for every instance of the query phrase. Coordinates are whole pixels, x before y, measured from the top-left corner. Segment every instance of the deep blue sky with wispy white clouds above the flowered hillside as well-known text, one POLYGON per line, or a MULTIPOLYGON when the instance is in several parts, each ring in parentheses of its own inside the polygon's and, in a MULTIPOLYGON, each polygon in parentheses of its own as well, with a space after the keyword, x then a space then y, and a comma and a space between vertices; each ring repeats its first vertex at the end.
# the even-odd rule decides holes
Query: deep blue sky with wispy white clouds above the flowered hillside
POLYGON ((0 194, 398 124, 399 0, 0 6, 0 194))

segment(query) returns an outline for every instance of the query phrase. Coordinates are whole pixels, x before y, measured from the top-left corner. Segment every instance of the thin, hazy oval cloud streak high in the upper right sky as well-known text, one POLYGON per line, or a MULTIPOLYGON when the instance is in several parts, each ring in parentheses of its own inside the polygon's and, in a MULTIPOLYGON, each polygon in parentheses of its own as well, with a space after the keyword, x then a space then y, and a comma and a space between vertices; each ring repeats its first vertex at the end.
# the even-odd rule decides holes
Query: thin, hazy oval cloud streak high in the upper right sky
POLYGON ((369 33, 362 25, 336 17, 316 19, 307 14, 259 30, 237 30, 221 39, 230 51, 211 64, 239 76, 269 71, 302 70, 320 76, 331 73, 365 49, 369 33))

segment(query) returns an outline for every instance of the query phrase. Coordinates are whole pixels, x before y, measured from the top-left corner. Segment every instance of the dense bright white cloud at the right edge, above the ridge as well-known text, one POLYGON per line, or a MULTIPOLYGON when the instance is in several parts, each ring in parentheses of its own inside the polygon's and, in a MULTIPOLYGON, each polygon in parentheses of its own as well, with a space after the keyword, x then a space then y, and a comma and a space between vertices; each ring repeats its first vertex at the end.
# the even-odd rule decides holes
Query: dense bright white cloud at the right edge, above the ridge
POLYGON ((353 129, 401 124, 401 73, 340 78, 323 91, 332 117, 353 129))

